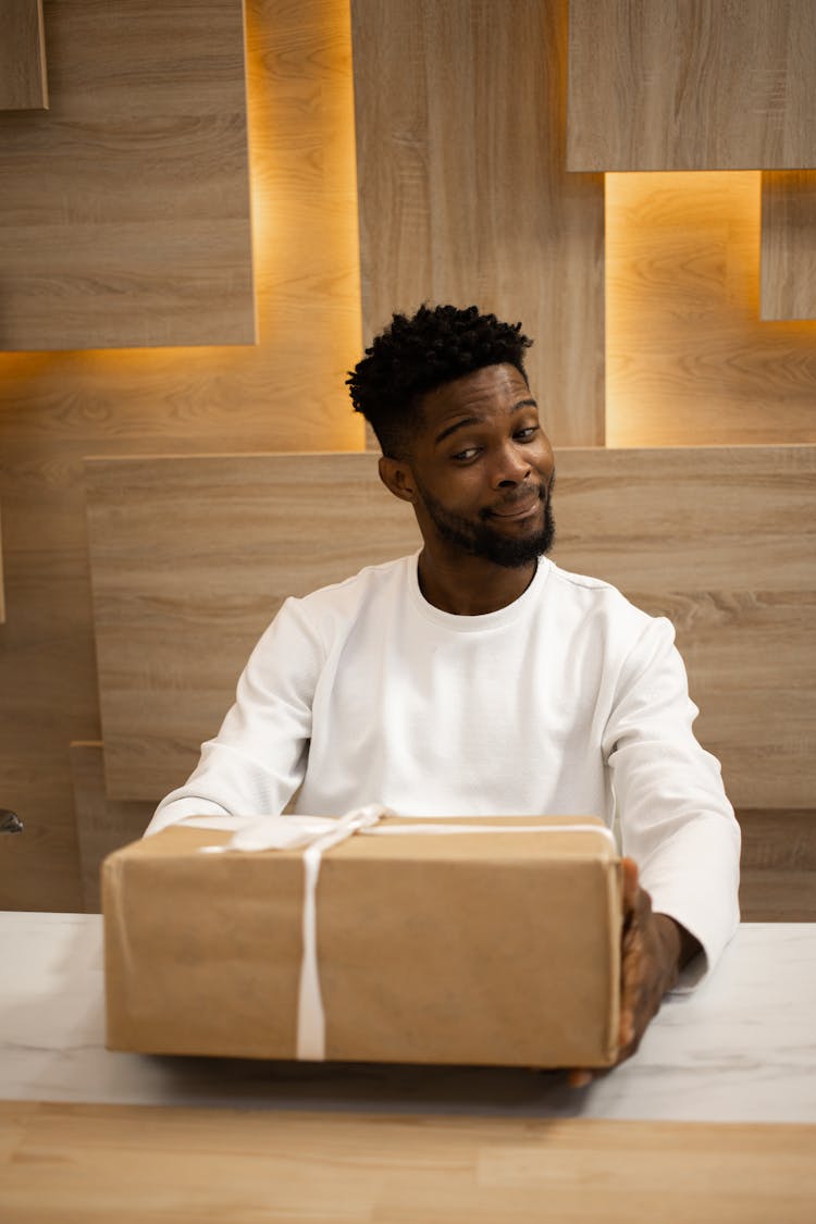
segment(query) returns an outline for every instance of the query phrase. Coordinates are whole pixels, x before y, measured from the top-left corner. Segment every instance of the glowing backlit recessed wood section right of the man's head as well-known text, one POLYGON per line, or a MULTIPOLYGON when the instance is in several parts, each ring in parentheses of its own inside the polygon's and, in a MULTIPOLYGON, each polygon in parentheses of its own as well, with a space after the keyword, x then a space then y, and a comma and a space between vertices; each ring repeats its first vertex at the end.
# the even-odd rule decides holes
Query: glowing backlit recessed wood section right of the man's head
POLYGON ((607 175, 610 447, 816 442, 816 323, 759 317, 760 177, 607 175))

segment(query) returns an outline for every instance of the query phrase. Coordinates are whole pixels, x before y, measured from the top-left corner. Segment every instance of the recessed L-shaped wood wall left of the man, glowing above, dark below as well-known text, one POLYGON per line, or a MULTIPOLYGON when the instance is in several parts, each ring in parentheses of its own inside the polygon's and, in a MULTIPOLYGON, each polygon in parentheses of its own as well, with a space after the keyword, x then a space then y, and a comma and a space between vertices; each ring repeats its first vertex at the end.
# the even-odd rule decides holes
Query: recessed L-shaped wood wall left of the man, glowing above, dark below
MULTIPOLYGON (((100 738, 83 457, 362 447, 347 0, 246 16, 261 343, 0 354, 0 804, 26 825, 0 847, 0 908, 82 909, 69 745, 100 738)), ((127 45, 148 54, 138 27, 127 45)))

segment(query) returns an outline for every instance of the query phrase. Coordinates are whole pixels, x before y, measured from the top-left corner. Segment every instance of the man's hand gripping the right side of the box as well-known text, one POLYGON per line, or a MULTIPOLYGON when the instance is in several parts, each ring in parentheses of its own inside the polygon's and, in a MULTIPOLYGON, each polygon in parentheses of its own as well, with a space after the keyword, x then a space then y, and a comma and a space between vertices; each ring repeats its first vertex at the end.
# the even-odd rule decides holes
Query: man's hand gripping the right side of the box
MULTIPOLYGON (((637 864, 623 859, 623 936, 620 949, 620 1027, 618 1062, 630 1058, 657 1015, 663 995, 677 985, 680 969, 700 944, 668 914, 652 912, 652 898, 637 883, 637 864)), ((573 1087, 584 1087, 590 1071, 570 1071, 573 1087)))

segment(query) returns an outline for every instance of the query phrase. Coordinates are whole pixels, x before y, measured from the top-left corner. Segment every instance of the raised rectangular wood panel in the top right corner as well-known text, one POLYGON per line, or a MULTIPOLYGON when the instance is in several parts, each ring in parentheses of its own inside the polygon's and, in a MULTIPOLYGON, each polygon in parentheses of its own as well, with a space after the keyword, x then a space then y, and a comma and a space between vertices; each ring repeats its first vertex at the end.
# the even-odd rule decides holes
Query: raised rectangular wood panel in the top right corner
POLYGON ((570 170, 816 165, 811 0, 570 0, 570 170))

